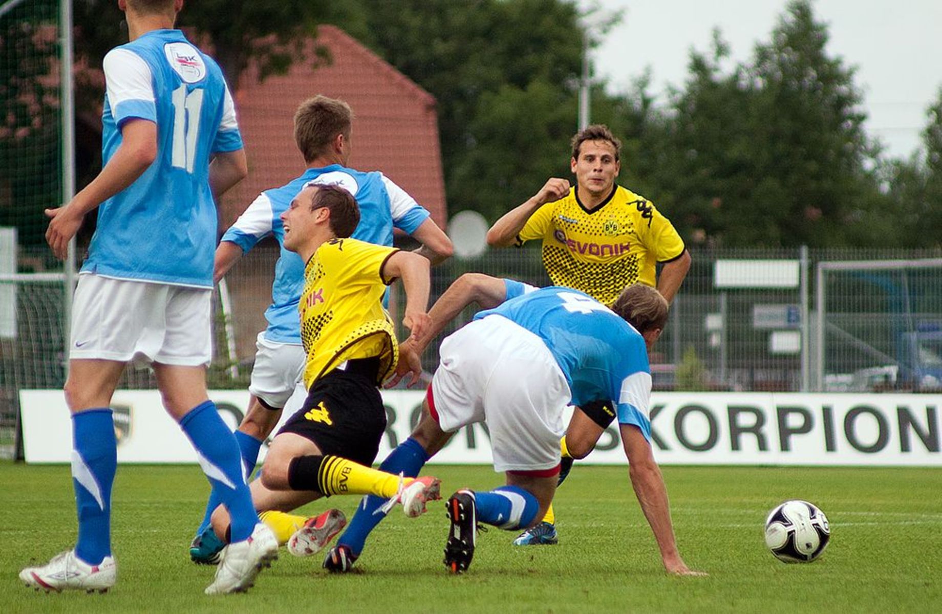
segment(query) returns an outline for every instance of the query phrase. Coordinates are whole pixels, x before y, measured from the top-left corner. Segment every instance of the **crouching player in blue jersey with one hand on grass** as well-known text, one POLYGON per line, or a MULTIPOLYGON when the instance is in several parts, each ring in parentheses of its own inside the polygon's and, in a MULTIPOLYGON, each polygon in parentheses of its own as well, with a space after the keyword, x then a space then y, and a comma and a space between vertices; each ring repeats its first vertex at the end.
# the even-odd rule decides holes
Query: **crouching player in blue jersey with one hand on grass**
POLYGON ((442 342, 419 424, 383 462, 386 471, 414 475, 458 429, 487 424, 495 471, 506 473, 507 484, 487 492, 463 489, 448 499, 447 569, 467 570, 479 522, 520 530, 543 517, 560 472, 562 408, 614 399, 631 483, 664 568, 700 574, 677 551, 667 490, 650 444, 647 347, 667 320, 667 301, 656 289, 634 284, 609 308, 569 288, 536 289, 465 274, 432 307, 429 331, 400 346, 398 376, 411 373, 417 380, 421 351, 475 301, 486 311, 442 342))

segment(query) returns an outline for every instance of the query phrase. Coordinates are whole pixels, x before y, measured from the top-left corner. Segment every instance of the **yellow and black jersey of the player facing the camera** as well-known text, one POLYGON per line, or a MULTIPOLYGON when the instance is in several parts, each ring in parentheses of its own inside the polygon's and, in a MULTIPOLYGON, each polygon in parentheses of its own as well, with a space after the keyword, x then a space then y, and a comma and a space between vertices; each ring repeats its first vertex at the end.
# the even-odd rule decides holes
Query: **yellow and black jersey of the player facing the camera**
POLYGON ((586 209, 576 188, 527 220, 517 246, 543 239, 543 264, 555 285, 611 305, 631 283, 655 285, 655 264, 684 252, 684 241, 654 204, 622 186, 586 209))

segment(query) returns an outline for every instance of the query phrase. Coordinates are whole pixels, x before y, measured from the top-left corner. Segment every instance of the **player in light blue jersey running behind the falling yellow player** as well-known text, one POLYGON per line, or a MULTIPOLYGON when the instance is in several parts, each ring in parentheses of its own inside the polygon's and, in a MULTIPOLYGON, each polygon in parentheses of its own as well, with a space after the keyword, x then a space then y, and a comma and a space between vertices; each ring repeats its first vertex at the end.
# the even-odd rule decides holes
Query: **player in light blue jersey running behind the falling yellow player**
MULTIPOLYGON (((432 264, 451 255, 451 241, 430 218, 429 211, 415 202, 405 190, 381 172, 350 169, 353 113, 349 105, 326 96, 315 96, 298 107, 295 113, 295 142, 304 156, 307 169, 284 186, 262 192, 235 224, 222 235, 216 250, 217 281, 233 267, 243 253, 252 250, 258 241, 273 236, 281 247, 271 287, 272 303, 265 312, 268 328, 258 335, 255 364, 252 367, 252 394, 249 411, 235 431, 245 465, 251 475, 258 460, 259 448, 278 424, 285 404, 298 387, 304 368, 301 347, 298 300, 304 285, 304 263, 300 256, 284 248, 284 226, 281 215, 303 186, 342 186, 355 198, 360 208, 360 223, 352 238, 383 246, 393 245, 393 230, 410 234, 421 245, 417 253, 432 264)), ((300 396, 307 391, 300 386, 300 396)), ((223 547, 210 526, 212 512, 219 500, 211 496, 190 544, 190 558, 197 563, 215 563, 223 547)), ((262 514, 263 520, 275 529, 279 541, 285 541, 300 528, 305 518, 284 514, 262 514)), ((327 519, 325 519, 326 522, 327 519)))

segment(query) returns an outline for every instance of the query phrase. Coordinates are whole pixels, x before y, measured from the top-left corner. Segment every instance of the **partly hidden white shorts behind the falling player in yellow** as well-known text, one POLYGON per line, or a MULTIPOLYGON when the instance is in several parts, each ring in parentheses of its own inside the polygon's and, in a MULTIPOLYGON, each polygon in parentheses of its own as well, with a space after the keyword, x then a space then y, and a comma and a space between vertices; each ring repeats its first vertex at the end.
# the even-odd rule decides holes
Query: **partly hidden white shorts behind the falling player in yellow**
POLYGON ((271 408, 284 408, 304 372, 307 356, 297 344, 269 341, 265 331, 255 340, 255 365, 249 392, 271 408))

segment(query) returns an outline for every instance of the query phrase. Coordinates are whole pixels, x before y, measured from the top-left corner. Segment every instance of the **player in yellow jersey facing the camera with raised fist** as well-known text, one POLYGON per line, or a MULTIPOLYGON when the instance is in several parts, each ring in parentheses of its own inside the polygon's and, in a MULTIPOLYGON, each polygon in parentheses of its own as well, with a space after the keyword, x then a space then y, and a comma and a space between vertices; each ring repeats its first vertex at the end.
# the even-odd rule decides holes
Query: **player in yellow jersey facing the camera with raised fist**
MULTIPOLYGON (((543 241, 543 263, 555 285, 581 290, 610 305, 625 286, 656 286, 670 303, 690 268, 690 252, 654 204, 616 183, 621 142, 604 125, 573 137, 569 180, 552 178, 527 202, 498 219, 487 234, 495 247, 543 241), (656 265, 661 263, 659 279, 656 265)), ((616 399, 617 400, 617 399, 616 399)), ((577 408, 562 439, 563 471, 587 456, 615 413, 610 403, 577 408)), ((553 508, 544 522, 521 534, 516 545, 558 541, 553 508)))

